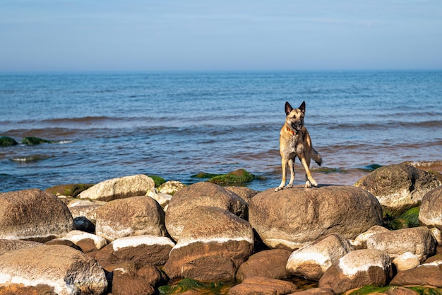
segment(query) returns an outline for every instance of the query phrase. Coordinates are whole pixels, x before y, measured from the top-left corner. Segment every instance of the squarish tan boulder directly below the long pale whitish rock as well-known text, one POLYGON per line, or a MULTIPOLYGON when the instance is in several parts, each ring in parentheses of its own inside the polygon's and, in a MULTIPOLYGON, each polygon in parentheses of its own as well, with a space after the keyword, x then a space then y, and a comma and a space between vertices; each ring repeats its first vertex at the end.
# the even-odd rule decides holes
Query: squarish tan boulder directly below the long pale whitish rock
POLYGON ((95 233, 114 241, 125 236, 165 236, 165 212, 150 197, 115 199, 96 210, 95 233))

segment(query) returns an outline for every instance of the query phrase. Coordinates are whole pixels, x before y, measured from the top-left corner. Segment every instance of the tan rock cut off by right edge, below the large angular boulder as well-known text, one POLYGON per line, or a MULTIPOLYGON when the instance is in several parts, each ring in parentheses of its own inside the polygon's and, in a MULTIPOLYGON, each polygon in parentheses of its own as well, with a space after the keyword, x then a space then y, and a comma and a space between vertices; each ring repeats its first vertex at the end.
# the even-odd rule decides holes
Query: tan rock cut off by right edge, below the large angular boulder
POLYGON ((419 223, 423 226, 442 229, 442 186, 427 192, 422 197, 419 223))

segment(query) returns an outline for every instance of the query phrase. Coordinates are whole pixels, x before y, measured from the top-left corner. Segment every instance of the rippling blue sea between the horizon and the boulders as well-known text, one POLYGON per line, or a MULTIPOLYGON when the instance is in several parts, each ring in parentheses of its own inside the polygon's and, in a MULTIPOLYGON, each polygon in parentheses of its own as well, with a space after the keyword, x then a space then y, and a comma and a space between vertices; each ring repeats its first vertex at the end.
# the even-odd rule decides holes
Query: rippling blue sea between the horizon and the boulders
POLYGON ((286 101, 306 102, 319 184, 402 162, 442 173, 440 70, 1 73, 0 136, 19 144, 0 147, 0 192, 241 168, 277 187, 286 101))

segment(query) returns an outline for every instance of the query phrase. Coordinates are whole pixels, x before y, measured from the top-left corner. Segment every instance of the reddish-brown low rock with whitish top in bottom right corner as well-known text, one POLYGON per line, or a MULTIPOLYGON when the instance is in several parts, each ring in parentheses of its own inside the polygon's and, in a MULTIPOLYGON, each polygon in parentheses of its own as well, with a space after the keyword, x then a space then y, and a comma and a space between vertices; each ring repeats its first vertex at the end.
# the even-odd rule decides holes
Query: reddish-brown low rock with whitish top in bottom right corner
POLYGON ((405 270, 398 272, 393 280, 390 282, 392 285, 408 286, 434 286, 442 287, 442 260, 434 261, 431 263, 425 263, 414 267, 411 270, 405 270))

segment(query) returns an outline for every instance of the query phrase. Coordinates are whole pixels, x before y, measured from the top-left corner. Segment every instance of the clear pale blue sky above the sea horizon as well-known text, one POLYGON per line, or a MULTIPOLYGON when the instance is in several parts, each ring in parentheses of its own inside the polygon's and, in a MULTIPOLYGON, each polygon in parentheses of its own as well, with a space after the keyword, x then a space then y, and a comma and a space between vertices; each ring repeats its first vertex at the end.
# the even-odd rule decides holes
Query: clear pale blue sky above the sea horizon
POLYGON ((0 71, 442 69, 441 0, 0 0, 0 71))

